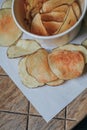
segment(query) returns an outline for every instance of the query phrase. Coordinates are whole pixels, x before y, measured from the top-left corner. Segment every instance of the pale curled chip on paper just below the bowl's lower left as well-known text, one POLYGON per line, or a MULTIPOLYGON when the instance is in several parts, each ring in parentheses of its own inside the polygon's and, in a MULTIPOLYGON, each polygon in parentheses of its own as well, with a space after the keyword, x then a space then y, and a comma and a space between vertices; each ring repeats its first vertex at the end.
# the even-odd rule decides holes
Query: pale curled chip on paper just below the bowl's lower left
POLYGON ((34 40, 20 39, 8 48, 7 56, 9 58, 21 57, 34 53, 40 48, 41 46, 34 40))

